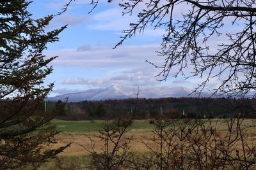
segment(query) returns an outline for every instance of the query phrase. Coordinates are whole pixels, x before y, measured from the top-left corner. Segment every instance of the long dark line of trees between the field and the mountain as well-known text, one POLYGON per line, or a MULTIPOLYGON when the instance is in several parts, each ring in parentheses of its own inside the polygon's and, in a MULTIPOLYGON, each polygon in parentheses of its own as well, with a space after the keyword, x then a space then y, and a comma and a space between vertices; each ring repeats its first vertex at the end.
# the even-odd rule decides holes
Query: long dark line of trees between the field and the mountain
MULTIPOLYGON (((155 118, 164 115, 169 118, 230 118, 243 113, 255 117, 255 99, 236 98, 161 98, 138 99, 136 119, 155 118)), ((63 104, 47 102, 47 107, 63 104)), ((132 113, 134 99, 109 99, 106 101, 81 101, 65 103, 56 118, 63 120, 97 120, 115 118, 132 113)))

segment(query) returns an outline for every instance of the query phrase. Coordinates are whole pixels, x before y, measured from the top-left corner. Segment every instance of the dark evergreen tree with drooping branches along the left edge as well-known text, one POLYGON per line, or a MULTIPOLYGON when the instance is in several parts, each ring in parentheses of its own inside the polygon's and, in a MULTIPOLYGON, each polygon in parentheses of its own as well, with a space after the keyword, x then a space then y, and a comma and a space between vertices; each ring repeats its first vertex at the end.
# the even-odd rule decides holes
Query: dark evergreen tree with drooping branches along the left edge
POLYGON ((44 110, 44 99, 53 87, 44 86, 44 80, 56 57, 42 54, 65 27, 45 32, 52 15, 31 18, 30 3, 0 2, 0 169, 35 166, 67 147, 47 149, 56 142, 57 132, 45 124, 58 108, 53 113, 44 110))

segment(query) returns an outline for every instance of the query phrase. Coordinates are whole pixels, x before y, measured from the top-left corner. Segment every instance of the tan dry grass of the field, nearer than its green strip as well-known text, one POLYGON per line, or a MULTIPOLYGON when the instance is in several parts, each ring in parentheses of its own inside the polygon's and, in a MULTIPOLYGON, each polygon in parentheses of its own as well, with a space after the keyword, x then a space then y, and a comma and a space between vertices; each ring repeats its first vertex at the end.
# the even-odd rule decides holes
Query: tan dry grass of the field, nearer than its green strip
MULTIPOLYGON (((246 119, 243 122, 244 126, 250 126, 253 124, 255 124, 255 122, 250 119, 246 119)), ((220 134, 221 137, 224 137, 227 134, 227 124, 225 124, 225 120, 219 120, 217 129, 218 134, 220 134)), ((152 138, 153 135, 154 134, 152 132, 152 129, 132 129, 128 131, 127 134, 125 134, 125 136, 132 136, 132 142, 130 144, 131 151, 136 152, 146 152, 147 148, 141 141, 144 141, 145 143, 152 143, 147 138, 152 138)), ((232 138, 235 138, 236 133, 232 135, 232 138)), ((62 132, 57 136, 58 144, 52 146, 52 148, 57 148, 59 146, 67 145, 68 143, 72 143, 71 146, 66 148, 63 153, 60 153, 60 155, 88 155, 90 154, 88 150, 91 150, 91 143, 88 136, 89 133, 62 132), (87 148, 88 150, 84 148, 87 148)), ((102 152, 102 150, 104 150, 104 141, 99 138, 99 132, 90 132, 90 136, 92 138, 92 141, 95 142, 95 151, 102 152)), ((246 137, 246 140, 248 141, 249 144, 255 145, 254 140, 256 139, 256 128, 250 127, 246 129, 246 132, 244 132, 244 136, 246 137)), ((241 146, 241 141, 238 141, 236 143, 236 147, 239 146, 241 146)))

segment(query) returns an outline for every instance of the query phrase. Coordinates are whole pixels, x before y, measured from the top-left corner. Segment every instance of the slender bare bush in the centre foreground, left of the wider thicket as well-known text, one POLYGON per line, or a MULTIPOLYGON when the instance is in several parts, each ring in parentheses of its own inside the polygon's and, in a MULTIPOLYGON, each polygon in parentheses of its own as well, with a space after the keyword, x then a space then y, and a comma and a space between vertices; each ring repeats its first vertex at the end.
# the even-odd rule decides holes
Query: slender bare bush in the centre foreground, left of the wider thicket
POLYGON ((130 159, 129 143, 132 138, 124 136, 127 127, 131 125, 131 118, 118 118, 116 121, 106 120, 102 125, 100 136, 104 141, 103 152, 95 152, 92 145, 92 169, 122 169, 130 159))

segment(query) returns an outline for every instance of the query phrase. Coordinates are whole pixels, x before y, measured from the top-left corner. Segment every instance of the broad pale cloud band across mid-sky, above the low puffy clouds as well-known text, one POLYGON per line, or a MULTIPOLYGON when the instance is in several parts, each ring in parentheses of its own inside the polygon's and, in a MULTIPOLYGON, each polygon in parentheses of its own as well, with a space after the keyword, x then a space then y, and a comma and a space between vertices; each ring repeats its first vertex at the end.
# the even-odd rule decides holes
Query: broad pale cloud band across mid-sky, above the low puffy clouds
POLYGON ((112 48, 90 48, 82 46, 77 49, 45 52, 47 56, 59 57, 52 61, 56 66, 81 66, 81 67, 117 67, 134 69, 136 67, 148 66, 145 59, 163 63, 164 58, 156 55, 159 45, 127 46, 112 48), (88 50, 90 49, 90 50, 88 50), (116 59, 118 58, 118 59, 116 59))

